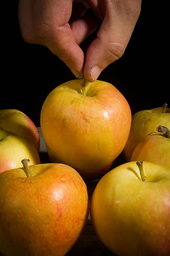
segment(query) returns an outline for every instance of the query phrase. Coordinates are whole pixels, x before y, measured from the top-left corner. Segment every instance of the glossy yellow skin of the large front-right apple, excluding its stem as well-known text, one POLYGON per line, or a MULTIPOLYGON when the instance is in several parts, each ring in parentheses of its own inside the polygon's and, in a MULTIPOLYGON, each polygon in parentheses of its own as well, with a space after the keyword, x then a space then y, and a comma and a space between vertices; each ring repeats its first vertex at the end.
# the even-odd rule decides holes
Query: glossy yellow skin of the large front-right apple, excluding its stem
POLYGON ((108 172, 91 200, 91 220, 103 244, 119 256, 170 255, 170 168, 136 162, 108 172))

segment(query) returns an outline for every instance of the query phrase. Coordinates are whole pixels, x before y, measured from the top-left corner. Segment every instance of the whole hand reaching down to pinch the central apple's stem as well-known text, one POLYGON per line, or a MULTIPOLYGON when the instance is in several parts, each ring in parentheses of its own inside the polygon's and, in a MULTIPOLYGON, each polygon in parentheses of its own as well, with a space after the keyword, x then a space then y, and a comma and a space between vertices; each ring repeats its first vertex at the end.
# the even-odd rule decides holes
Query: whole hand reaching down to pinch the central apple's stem
POLYGON ((19 0, 20 29, 26 42, 48 47, 77 78, 84 76, 92 82, 105 67, 122 57, 139 18, 141 2, 19 0), (98 27, 96 20, 85 16, 88 7, 102 24, 84 54, 79 45, 98 27))

